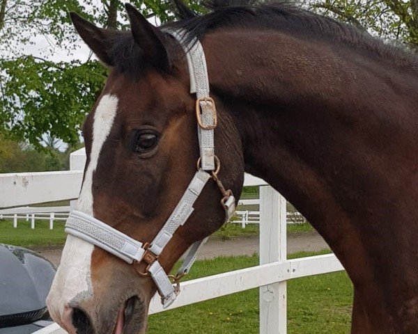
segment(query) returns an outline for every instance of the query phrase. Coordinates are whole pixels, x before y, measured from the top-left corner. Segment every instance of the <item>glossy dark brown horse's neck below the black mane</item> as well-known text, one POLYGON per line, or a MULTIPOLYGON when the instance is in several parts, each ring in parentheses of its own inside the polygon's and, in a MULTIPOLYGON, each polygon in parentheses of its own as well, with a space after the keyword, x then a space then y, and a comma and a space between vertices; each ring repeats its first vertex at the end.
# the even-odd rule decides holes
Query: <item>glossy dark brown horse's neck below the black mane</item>
POLYGON ((393 288, 403 272, 416 288, 405 254, 418 235, 417 72, 272 31, 212 33, 203 46, 247 172, 308 218, 355 285, 393 288))

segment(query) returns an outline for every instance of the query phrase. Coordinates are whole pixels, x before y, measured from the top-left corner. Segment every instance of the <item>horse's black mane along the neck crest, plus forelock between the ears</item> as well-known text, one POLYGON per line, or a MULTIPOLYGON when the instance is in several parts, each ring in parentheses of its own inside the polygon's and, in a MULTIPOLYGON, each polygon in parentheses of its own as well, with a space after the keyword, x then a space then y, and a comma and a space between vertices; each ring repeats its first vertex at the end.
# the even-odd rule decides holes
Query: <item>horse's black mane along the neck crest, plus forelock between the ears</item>
MULTIPOLYGON (((291 3, 259 3, 256 0, 207 0, 204 7, 208 13, 199 15, 188 8, 182 0, 173 0, 180 20, 166 24, 164 28, 182 28, 189 32, 187 40, 201 40, 206 33, 222 29, 276 29, 302 38, 342 43, 366 52, 374 58, 390 61, 401 67, 418 70, 414 53, 402 47, 385 44, 366 31, 297 8, 291 3)), ((122 70, 137 70, 141 55, 132 38, 127 36, 114 49, 116 66, 122 70), (132 61, 134 65, 132 65, 132 61), (130 63, 130 64, 128 64, 130 63)))

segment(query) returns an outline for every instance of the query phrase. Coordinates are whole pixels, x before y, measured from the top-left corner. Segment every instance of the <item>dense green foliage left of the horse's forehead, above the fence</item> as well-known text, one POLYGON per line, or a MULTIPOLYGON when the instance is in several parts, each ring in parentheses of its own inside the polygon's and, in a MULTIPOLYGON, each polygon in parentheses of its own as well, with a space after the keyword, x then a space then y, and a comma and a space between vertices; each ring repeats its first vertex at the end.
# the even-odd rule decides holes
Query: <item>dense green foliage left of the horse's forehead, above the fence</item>
POLYGON ((81 124, 107 75, 100 63, 53 63, 21 56, 1 61, 1 67, 2 132, 36 148, 47 146, 45 137, 79 141, 81 124))

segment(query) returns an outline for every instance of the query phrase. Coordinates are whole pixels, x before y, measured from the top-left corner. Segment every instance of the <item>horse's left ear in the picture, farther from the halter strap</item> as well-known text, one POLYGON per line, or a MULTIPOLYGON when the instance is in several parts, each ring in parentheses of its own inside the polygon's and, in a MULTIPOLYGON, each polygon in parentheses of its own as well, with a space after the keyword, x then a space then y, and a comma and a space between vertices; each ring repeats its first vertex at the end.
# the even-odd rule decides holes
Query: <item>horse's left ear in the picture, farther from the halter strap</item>
POLYGON ((98 56, 100 61, 106 65, 113 66, 114 61, 109 50, 112 47, 116 32, 99 28, 74 12, 70 13, 70 17, 75 29, 88 47, 90 47, 91 51, 98 56))

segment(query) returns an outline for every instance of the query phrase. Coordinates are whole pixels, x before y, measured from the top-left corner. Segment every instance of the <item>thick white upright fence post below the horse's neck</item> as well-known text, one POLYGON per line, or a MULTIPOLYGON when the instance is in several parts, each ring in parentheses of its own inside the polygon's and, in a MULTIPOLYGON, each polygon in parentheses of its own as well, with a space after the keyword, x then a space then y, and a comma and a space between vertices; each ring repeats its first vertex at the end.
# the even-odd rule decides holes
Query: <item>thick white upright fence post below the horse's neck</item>
MULTIPOLYGON (((286 261, 286 199, 260 186, 260 264, 286 261)), ((260 287, 260 334, 286 334, 286 282, 260 287)))

